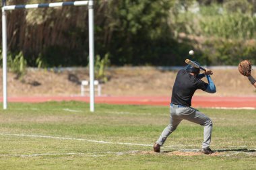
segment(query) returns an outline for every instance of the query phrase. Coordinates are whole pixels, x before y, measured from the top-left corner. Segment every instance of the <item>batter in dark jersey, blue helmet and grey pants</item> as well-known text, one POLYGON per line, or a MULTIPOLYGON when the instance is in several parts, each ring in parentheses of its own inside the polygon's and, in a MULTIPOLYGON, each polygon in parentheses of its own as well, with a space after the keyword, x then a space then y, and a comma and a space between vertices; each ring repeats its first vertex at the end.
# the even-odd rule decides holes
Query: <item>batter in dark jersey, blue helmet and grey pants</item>
MULTIPOLYGON (((198 62, 195 63, 199 65, 198 62)), ((170 103, 170 123, 164 128, 160 138, 154 143, 153 149, 155 152, 160 153, 160 147, 164 144, 166 138, 176 130, 182 120, 189 120, 190 122, 204 126, 201 152, 204 154, 214 153, 210 149, 212 120, 205 114, 199 112, 199 110, 191 108, 191 99, 197 89, 201 89, 207 93, 216 92, 216 87, 210 77, 212 71, 206 69, 203 74, 199 73, 200 69, 191 65, 187 65, 186 69, 181 69, 177 73, 172 89, 172 101, 170 103), (207 78, 208 83, 201 80, 203 77, 207 78)))

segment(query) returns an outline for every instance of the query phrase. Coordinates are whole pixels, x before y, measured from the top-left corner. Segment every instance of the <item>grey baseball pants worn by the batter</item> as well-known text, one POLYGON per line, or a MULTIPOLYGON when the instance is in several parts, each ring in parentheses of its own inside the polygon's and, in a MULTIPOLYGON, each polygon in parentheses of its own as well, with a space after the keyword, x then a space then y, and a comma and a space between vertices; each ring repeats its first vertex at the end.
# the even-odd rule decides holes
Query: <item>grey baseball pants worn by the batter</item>
POLYGON ((170 106, 170 124, 164 128, 156 142, 162 146, 166 138, 176 130, 183 119, 204 126, 202 148, 209 147, 212 137, 212 120, 194 108, 178 108, 178 105, 170 106))

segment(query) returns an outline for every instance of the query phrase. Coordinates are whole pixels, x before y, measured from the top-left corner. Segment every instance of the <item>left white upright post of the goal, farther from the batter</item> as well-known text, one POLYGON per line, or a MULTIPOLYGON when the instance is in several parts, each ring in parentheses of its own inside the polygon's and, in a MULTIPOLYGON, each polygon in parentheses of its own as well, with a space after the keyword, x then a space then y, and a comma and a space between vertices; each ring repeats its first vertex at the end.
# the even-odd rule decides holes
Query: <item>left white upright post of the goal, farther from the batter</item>
MULTIPOLYGON (((3 7, 6 1, 2 1, 3 7)), ((3 40, 3 109, 7 109, 7 26, 6 26, 6 13, 2 7, 2 40, 3 40)))

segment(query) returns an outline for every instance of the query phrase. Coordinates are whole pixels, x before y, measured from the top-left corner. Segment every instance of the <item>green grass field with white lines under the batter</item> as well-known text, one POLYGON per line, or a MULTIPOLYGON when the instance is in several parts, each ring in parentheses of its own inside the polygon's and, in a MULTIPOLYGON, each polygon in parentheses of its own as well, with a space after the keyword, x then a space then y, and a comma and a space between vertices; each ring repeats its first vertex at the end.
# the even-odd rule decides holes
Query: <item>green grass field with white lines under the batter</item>
POLYGON ((183 121, 162 153, 152 144, 169 108, 10 103, 0 114, 0 169, 256 169, 255 110, 199 109, 214 122, 214 155, 197 151, 203 127, 183 121), (195 150, 195 151, 194 151, 195 150))

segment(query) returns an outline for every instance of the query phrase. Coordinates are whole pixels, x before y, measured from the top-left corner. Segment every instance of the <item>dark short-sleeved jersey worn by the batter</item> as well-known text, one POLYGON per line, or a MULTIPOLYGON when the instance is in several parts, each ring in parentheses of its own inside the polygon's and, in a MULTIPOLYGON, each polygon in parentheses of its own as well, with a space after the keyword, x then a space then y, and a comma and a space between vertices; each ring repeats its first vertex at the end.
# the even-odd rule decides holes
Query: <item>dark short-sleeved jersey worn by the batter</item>
POLYGON ((205 91, 207 83, 191 75, 186 70, 180 70, 172 89, 172 103, 191 106, 191 99, 197 89, 205 91))

